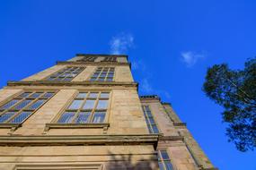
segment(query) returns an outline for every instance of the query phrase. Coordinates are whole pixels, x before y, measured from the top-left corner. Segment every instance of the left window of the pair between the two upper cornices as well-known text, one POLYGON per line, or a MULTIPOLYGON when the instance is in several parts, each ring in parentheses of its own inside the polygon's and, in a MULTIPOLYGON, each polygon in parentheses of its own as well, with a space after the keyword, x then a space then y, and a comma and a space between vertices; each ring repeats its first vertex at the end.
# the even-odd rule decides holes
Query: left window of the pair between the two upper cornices
POLYGON ((47 81, 71 81, 83 70, 84 67, 66 67, 59 72, 51 74, 47 81))

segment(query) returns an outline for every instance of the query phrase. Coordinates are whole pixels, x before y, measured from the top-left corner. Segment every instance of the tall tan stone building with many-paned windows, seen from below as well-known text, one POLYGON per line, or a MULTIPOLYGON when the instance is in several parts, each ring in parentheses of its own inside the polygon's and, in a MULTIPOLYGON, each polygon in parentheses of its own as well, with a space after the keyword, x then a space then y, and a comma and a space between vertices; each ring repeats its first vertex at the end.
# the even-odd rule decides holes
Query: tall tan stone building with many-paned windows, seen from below
POLYGON ((0 170, 216 169, 127 55, 76 55, 0 90, 0 170), (159 165, 159 166, 158 166, 159 165))

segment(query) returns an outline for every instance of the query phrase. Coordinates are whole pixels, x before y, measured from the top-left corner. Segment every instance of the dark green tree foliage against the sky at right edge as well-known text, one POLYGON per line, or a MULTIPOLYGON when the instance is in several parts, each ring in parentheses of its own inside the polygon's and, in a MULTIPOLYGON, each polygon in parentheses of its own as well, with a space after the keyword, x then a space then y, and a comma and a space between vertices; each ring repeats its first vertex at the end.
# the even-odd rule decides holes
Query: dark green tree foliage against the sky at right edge
POLYGON ((224 107, 226 135, 241 151, 256 147, 256 57, 243 70, 215 64, 207 70, 203 85, 208 98, 224 107))

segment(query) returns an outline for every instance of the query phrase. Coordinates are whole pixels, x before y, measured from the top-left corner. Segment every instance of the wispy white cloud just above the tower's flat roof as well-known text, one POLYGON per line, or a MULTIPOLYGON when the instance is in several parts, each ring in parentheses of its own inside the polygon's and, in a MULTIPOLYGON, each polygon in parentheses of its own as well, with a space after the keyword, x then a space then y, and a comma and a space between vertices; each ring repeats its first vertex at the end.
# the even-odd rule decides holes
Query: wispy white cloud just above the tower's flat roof
POLYGON ((128 52, 128 48, 134 47, 134 37, 130 33, 120 33, 110 40, 110 54, 120 55, 128 52))

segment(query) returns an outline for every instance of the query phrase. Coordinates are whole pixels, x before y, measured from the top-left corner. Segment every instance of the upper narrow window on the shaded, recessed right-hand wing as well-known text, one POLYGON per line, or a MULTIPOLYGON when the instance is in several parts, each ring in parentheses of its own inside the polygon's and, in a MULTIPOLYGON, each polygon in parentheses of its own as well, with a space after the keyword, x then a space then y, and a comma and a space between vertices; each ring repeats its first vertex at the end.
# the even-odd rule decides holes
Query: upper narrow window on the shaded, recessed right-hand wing
POLYGON ((150 133, 159 133, 158 128, 156 126, 156 123, 154 122, 154 117, 150 111, 149 106, 142 106, 143 108, 143 112, 144 112, 144 116, 146 119, 146 125, 148 128, 148 131, 150 133))

